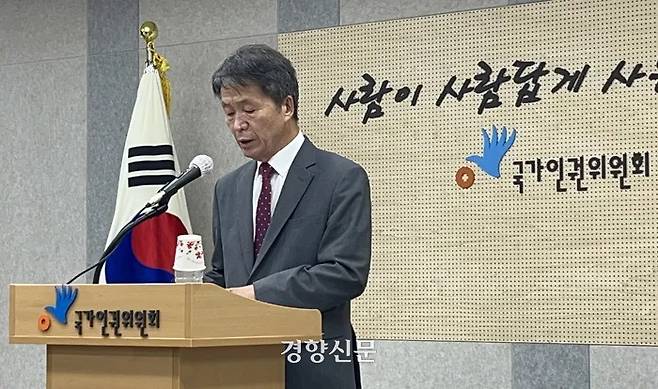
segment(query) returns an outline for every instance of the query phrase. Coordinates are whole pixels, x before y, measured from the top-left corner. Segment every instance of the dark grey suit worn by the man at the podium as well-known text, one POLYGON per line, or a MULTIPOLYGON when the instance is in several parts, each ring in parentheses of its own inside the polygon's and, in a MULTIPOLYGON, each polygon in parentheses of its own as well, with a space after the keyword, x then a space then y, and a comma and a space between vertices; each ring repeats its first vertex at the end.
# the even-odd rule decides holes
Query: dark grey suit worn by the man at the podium
MULTIPOLYGON (((366 172, 305 139, 254 258, 256 165, 246 163, 215 186, 215 251, 206 280, 226 288, 253 284, 259 301, 319 309, 323 339, 331 344, 351 339, 350 300, 365 289, 370 269, 366 172)), ((297 364, 287 363, 286 387, 355 387, 353 362, 337 363, 329 351, 320 364, 311 363, 308 354, 297 364)))

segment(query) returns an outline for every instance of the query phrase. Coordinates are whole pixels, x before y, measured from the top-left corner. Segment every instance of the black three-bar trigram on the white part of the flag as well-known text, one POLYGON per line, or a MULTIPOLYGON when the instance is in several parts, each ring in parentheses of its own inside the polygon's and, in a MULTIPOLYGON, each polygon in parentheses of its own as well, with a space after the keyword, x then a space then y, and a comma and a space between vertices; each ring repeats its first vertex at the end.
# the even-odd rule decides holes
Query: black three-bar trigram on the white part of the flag
POLYGON ((128 187, 164 185, 176 178, 171 145, 137 146, 128 149, 128 187))

